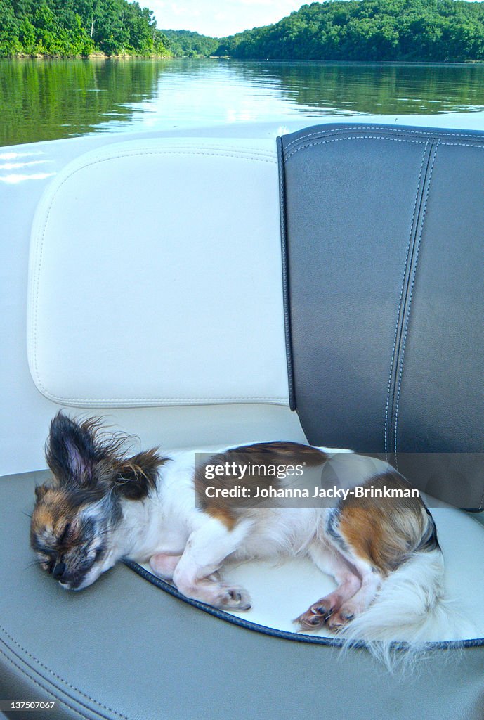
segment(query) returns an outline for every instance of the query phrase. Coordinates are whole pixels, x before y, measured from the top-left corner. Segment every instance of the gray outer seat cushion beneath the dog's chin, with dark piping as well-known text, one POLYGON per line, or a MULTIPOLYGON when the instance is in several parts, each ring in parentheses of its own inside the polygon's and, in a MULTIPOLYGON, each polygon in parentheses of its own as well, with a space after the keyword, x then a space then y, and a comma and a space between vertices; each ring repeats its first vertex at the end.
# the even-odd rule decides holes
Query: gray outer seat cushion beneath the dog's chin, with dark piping
POLYGON ((27 719, 482 720, 484 647, 439 650, 402 679, 365 650, 230 625, 122 565, 65 592, 28 546, 44 477, 0 480, 0 697, 58 701, 27 719))

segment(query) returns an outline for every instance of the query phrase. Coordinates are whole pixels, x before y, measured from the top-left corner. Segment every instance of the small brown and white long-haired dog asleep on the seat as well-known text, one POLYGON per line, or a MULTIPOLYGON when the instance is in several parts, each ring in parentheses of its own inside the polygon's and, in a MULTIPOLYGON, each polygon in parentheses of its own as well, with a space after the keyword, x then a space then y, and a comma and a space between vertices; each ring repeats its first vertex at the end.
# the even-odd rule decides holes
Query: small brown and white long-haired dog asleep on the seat
MULTIPOLYGON (((206 485, 223 487, 227 479, 194 472, 193 452, 128 458, 122 447, 123 438, 106 435, 96 420, 78 423, 63 413, 52 420, 46 458, 53 477, 36 488, 31 544, 63 588, 86 588, 127 557, 150 562, 188 598, 241 611, 250 608, 250 596, 224 582, 219 570, 227 560, 309 556, 337 588, 301 613, 301 629, 326 626, 387 649, 395 640, 455 639, 437 531, 420 498, 240 508, 206 498, 206 485)), ((328 464, 342 486, 408 487, 383 462, 291 442, 227 449, 210 462, 328 464)), ((287 478, 279 482, 288 487, 287 478)))

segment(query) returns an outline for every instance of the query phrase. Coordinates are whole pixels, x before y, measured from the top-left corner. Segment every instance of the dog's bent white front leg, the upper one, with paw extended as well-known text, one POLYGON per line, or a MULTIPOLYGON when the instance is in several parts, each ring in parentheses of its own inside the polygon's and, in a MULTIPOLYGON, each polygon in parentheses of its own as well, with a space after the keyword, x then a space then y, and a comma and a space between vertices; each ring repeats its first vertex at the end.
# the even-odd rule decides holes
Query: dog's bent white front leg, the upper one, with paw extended
POLYGON ((240 546, 248 529, 247 524, 228 528, 216 518, 208 518, 193 531, 173 573, 178 590, 188 598, 216 608, 248 610, 250 597, 247 590, 227 585, 214 575, 224 559, 240 546))

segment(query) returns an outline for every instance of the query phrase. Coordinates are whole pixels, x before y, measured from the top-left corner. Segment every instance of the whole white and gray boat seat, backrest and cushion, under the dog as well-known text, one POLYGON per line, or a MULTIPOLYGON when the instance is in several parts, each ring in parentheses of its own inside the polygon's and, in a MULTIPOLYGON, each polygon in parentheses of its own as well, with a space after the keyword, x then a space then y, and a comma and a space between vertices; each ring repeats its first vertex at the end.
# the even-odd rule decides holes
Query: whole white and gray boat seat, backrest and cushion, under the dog
POLYGON ((240 442, 305 433, 388 457, 453 506, 436 508, 447 583, 475 636, 388 675, 365 648, 291 633, 303 565, 234 570, 260 589, 248 621, 123 564, 67 593, 29 549, 48 474, 26 472, 0 482, 3 698, 55 701, 39 720, 482 719, 484 530, 457 508, 484 500, 483 148, 352 123, 83 154, 37 207, 19 369, 22 413, 129 419, 143 445, 164 428, 173 447, 219 444, 237 418, 240 442))

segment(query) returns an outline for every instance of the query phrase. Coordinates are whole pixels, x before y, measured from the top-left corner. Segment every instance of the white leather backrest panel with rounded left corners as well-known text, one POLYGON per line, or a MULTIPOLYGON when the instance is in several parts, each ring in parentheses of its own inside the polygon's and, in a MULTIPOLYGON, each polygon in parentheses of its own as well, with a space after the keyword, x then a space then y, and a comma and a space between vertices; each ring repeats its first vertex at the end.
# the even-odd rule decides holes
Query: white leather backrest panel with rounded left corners
POLYGON ((70 163, 37 209, 28 353, 63 405, 287 404, 275 140, 70 163))

